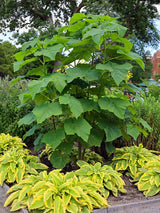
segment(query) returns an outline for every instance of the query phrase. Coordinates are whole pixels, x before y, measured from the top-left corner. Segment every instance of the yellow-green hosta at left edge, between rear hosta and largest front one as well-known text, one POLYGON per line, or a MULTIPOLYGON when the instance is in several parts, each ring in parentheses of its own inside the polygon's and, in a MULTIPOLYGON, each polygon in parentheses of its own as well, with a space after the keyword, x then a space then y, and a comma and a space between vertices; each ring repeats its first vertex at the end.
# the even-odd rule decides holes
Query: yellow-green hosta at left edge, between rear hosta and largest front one
POLYGON ((27 174, 38 174, 37 170, 47 168, 38 157, 29 155, 28 150, 12 148, 0 157, 0 185, 4 181, 19 183, 27 174))

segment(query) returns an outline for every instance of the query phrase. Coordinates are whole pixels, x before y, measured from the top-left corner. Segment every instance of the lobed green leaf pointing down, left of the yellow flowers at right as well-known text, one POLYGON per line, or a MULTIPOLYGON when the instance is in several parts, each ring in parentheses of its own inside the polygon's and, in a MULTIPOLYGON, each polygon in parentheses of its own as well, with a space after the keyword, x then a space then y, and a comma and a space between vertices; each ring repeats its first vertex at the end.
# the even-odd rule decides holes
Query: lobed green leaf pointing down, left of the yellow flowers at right
POLYGON ((106 64, 97 64, 96 68, 99 70, 110 71, 114 81, 119 85, 127 76, 128 71, 132 69, 132 65, 128 62, 117 64, 109 61, 106 64))

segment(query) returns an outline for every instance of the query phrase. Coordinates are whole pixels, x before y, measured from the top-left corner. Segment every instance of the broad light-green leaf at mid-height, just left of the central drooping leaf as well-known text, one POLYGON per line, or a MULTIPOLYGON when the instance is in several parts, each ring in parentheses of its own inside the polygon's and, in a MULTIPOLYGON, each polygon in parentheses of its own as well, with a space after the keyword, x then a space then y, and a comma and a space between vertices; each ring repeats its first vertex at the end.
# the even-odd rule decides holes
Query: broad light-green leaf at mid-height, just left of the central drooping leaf
POLYGON ((36 106, 32 112, 37 118, 37 123, 42 123, 52 115, 61 115, 62 107, 59 103, 45 103, 36 106))

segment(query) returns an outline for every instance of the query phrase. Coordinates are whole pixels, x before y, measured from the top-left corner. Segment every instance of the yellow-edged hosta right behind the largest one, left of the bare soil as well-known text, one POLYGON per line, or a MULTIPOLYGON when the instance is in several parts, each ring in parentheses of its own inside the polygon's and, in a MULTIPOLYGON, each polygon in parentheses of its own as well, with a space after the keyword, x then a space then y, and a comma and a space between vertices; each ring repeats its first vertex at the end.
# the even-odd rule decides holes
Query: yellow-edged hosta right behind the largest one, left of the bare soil
POLYGON ((114 196, 118 196, 118 192, 126 192, 124 189, 124 181, 120 177, 121 174, 113 170, 111 166, 104 165, 101 163, 96 163, 95 165, 88 164, 84 161, 78 161, 77 163, 80 167, 76 171, 76 174, 80 179, 84 180, 89 179, 96 184, 101 184, 102 192, 107 198, 112 192, 114 196))

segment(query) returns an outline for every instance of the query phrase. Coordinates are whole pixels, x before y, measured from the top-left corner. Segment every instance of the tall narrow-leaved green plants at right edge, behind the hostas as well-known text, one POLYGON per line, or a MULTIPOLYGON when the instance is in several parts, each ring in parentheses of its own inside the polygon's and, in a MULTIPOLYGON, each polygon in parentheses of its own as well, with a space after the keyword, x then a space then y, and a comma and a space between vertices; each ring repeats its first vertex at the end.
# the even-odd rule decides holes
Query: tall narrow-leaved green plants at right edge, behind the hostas
MULTIPOLYGON (((154 88, 154 87, 153 87, 154 88)), ((156 87, 157 88, 157 87, 156 87)), ((159 88, 158 88, 159 90, 159 88)), ((156 90, 155 90, 156 92, 156 90)), ((133 103, 136 111, 136 117, 138 120, 143 118, 150 125, 151 130, 148 132, 148 136, 140 134, 137 142, 143 143, 143 146, 148 149, 159 150, 160 144, 160 99, 149 95, 144 100, 138 100, 133 103)))

